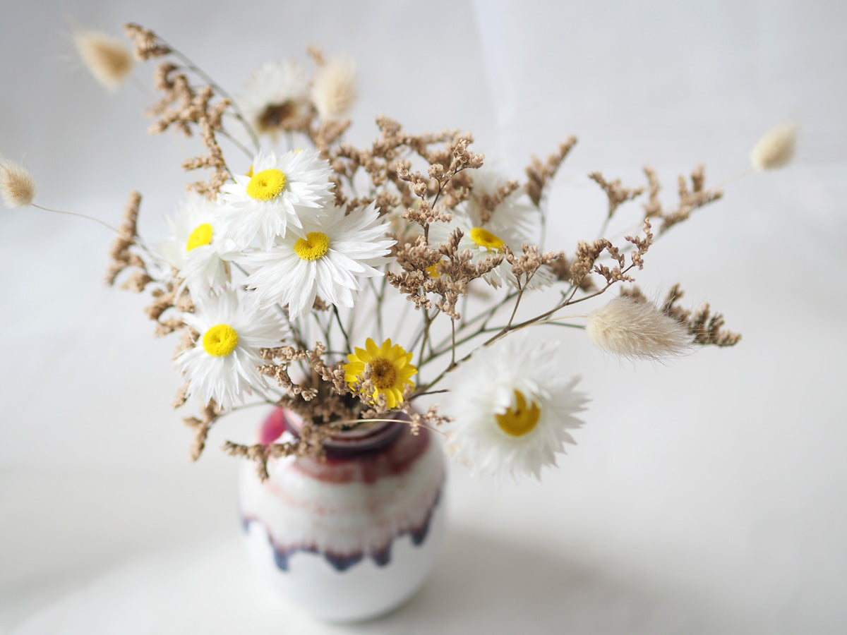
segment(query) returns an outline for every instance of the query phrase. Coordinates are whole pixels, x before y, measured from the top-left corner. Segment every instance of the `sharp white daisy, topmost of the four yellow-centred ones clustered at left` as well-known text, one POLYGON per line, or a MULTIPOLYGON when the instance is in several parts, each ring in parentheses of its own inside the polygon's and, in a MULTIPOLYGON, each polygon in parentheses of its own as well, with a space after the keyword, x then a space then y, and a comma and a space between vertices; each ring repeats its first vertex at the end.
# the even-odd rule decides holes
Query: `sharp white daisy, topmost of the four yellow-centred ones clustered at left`
MULTIPOLYGON (((227 235, 242 249, 258 236, 262 249, 291 228, 302 228, 332 197, 329 163, 317 151, 295 150, 277 157, 259 152, 249 172, 224 185, 227 235)), ((302 233, 302 232, 299 232, 302 233)))

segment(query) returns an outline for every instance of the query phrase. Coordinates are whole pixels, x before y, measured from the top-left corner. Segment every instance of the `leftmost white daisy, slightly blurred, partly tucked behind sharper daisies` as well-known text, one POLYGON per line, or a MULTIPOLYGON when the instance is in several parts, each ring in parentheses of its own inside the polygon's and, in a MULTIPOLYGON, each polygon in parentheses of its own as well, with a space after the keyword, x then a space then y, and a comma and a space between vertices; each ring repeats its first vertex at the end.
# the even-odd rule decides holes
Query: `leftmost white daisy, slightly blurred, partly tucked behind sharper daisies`
POLYGON ((174 217, 165 218, 169 238, 154 246, 165 262, 180 271, 193 296, 223 288, 230 281, 228 263, 239 253, 224 234, 219 210, 218 203, 189 192, 174 217))

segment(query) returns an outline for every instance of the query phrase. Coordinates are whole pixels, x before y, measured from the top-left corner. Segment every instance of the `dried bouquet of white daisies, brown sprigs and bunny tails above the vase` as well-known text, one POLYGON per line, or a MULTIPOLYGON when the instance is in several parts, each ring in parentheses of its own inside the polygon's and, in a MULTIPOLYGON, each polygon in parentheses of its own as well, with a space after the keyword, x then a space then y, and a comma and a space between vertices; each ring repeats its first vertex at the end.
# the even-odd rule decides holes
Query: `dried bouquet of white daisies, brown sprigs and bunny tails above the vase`
MULTIPOLYGON (((476 472, 538 476, 573 443, 568 431, 582 424, 586 397, 557 342, 536 344, 526 329, 581 329, 602 351, 653 359, 739 341, 709 306, 679 306, 678 286, 655 303, 632 285, 654 240, 722 196, 701 166, 679 178, 671 206, 649 167, 644 187, 590 174, 608 198, 598 236, 545 251, 545 192, 574 138, 533 158, 523 179, 485 166, 468 133, 412 135, 387 117, 371 146, 355 147, 344 141, 352 63, 317 50, 312 76, 291 61, 266 63, 234 99, 152 31, 125 32, 136 58, 159 60, 152 134, 198 135, 203 150, 182 168, 209 171, 155 243, 136 231, 133 192, 108 271, 109 284, 120 278, 152 295, 157 335, 181 336, 175 362, 185 385, 174 407, 199 400, 199 414, 185 418, 193 459, 228 412, 273 404, 302 419, 296 438, 224 444, 263 478, 272 458, 319 458, 324 439, 398 416, 412 433, 444 433, 476 472), (640 231, 606 238, 618 208, 634 200, 640 231), (570 307, 612 287, 611 301, 573 315, 570 307), (529 294, 545 310, 526 314, 529 294)), ((130 74, 121 41, 80 33, 76 44, 104 86, 130 74)), ((794 134, 768 133, 754 167, 787 163, 794 134)), ((16 163, 0 160, 0 192, 10 207, 35 204, 35 183, 16 163)))

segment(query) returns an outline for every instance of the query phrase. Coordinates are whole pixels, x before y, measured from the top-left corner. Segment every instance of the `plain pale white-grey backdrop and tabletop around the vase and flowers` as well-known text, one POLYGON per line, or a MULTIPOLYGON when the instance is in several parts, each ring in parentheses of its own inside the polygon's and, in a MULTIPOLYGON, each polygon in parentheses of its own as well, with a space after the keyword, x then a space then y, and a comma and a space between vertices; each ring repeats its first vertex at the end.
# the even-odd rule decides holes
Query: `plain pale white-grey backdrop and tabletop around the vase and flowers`
POLYGON ((785 119, 798 152, 728 183, 637 276, 653 295, 681 282, 741 343, 633 364, 543 331, 592 398, 578 445, 541 483, 456 467, 435 577, 362 627, 313 624, 252 587, 238 466, 217 447, 262 413, 224 420, 189 463, 191 413, 169 408, 175 342, 152 338, 146 297, 102 284, 108 231, 0 210, 0 632, 844 632, 847 5, 4 3, 0 153, 47 207, 118 224, 141 191, 154 240, 193 141, 146 134, 152 64, 134 71, 143 91, 108 95, 70 36, 127 21, 236 93, 268 59, 308 63, 310 44, 355 58, 353 143, 379 113, 467 129, 520 178, 577 135, 549 200, 547 246, 571 253, 606 210, 591 171, 642 185, 650 163, 673 202, 677 174, 706 163, 707 185, 732 179, 785 119))

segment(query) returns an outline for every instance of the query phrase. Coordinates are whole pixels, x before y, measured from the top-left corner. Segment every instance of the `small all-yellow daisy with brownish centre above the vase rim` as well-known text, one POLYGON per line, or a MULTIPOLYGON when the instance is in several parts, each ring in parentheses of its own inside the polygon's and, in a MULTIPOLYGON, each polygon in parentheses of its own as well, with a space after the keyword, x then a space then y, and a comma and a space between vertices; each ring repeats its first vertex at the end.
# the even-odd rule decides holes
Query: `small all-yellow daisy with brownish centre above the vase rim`
POLYGON ((403 389, 411 384, 412 375, 418 373, 418 368, 412 366, 412 353, 407 353, 402 346, 392 345, 390 338, 377 346, 374 340, 368 338, 365 348, 356 348, 355 353, 347 356, 344 365, 344 380, 353 385, 362 377, 365 365, 371 367, 371 382, 374 384, 374 400, 379 395, 385 395, 388 407, 393 408, 403 400, 403 389))

